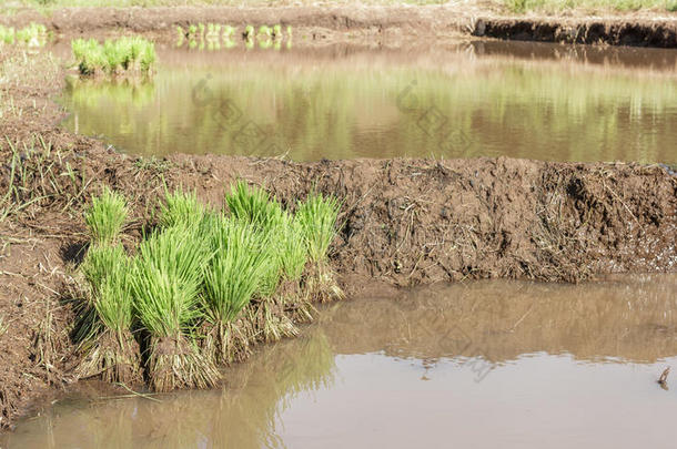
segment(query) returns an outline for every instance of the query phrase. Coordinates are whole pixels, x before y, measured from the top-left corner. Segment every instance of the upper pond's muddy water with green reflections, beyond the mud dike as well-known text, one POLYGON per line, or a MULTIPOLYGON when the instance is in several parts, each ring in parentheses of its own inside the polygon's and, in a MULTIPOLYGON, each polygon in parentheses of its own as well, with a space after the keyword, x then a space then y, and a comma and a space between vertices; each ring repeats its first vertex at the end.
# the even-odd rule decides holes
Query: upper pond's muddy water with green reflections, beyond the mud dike
POLYGON ((69 82, 71 130, 138 154, 677 163, 677 52, 165 49, 153 83, 69 82))

